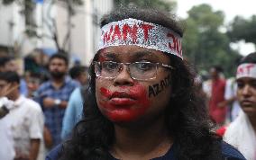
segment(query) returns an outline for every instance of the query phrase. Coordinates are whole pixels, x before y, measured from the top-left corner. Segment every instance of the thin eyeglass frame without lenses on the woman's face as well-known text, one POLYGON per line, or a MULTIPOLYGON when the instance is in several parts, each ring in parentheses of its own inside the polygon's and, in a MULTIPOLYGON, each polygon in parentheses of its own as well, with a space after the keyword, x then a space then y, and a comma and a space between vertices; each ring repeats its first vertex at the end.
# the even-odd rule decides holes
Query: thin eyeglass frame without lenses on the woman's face
MULTIPOLYGON (((103 61, 103 62, 114 62, 114 61, 103 61)), ((122 62, 114 62, 118 65, 120 65, 120 67, 118 68, 118 74, 114 77, 106 77, 106 76, 100 76, 99 73, 96 73, 96 64, 100 65, 102 62, 99 62, 99 61, 93 61, 93 65, 94 65, 94 72, 96 74, 97 77, 102 77, 102 78, 105 78, 105 79, 114 79, 116 78, 119 74, 120 74, 120 71, 123 70, 123 66, 125 65, 127 68, 126 70, 128 71, 129 75, 131 76, 131 78, 133 80, 139 80, 139 81, 148 81, 148 80, 152 80, 152 79, 155 79, 157 78, 157 73, 158 73, 158 69, 159 67, 164 67, 164 68, 167 68, 167 69, 170 69, 170 70, 175 70, 175 67, 172 67, 170 65, 167 65, 167 64, 163 64, 163 63, 153 63, 153 62, 149 62, 149 61, 145 61, 145 62, 133 62, 133 63, 122 63, 122 62), (150 63, 150 64, 155 64, 156 67, 155 67, 155 76, 154 77, 151 77, 151 78, 148 78, 148 79, 139 79, 139 78, 134 78, 132 75, 131 75, 131 72, 130 72, 130 65, 131 64, 135 64, 135 63, 150 63)))

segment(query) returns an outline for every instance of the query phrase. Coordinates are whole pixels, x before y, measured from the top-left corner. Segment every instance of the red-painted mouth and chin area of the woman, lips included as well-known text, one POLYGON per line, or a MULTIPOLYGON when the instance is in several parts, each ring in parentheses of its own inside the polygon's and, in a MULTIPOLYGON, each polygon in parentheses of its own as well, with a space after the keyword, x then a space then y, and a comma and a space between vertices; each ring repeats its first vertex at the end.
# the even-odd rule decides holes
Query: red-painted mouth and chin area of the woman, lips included
POLYGON ((118 89, 118 92, 101 87, 100 93, 103 98, 99 102, 99 108, 109 120, 115 122, 137 120, 150 106, 146 89, 140 84, 135 84, 129 89, 118 89))

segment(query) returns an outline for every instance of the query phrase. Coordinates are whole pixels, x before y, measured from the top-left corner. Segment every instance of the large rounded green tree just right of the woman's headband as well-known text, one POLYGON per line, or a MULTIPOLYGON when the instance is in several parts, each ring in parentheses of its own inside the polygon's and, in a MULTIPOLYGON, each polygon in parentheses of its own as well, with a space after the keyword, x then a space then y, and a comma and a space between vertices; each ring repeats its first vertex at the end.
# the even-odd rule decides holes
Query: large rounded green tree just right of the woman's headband
POLYGON ((185 20, 187 30, 183 38, 183 53, 198 71, 214 65, 224 67, 225 75, 233 75, 233 63, 241 56, 230 48, 230 39, 220 28, 224 13, 214 12, 208 4, 192 7, 185 20))

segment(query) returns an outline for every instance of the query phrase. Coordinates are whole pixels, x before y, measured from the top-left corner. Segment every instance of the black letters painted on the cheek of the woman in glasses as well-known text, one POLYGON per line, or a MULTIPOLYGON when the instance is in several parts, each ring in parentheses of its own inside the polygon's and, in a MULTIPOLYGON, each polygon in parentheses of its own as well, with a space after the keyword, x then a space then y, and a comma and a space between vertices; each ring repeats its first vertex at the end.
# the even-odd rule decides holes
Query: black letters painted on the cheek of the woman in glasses
POLYGON ((153 95, 154 97, 161 93, 164 89, 170 85, 170 76, 165 77, 160 81, 159 84, 149 85, 149 97, 153 95))

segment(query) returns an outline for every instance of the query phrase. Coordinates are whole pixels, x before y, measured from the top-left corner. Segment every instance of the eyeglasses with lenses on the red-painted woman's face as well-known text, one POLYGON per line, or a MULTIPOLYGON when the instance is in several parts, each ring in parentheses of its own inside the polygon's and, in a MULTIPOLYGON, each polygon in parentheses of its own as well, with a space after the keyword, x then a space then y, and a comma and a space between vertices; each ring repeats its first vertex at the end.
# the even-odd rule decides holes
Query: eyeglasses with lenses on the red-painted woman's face
POLYGON ((104 78, 115 78, 127 66, 128 72, 133 79, 151 80, 157 77, 159 67, 175 69, 169 65, 151 62, 118 63, 114 61, 94 62, 96 76, 104 78))

